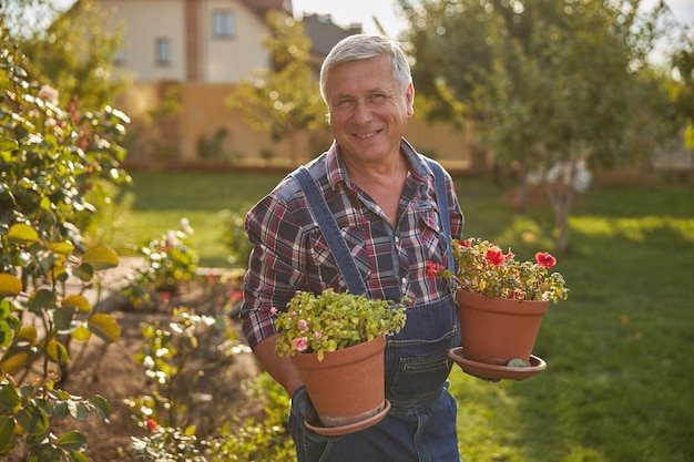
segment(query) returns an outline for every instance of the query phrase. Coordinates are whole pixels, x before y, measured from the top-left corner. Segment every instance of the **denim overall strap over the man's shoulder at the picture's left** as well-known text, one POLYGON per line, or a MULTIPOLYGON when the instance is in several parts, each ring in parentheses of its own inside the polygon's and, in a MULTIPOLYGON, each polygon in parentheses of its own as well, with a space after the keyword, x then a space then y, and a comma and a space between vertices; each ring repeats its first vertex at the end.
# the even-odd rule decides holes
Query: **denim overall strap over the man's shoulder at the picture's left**
POLYGON ((292 176, 296 178, 306 195, 308 207, 318 223, 318 227, 327 240, 328 247, 330 247, 330 251, 347 284, 347 289, 350 294, 355 295, 366 294, 366 285, 364 284, 359 268, 357 268, 357 264, 349 253, 349 247, 347 247, 347 243, 343 238, 337 222, 335 217, 333 217, 333 212, 330 212, 315 179, 310 176, 310 173, 308 173, 308 168, 302 166, 294 171, 292 176))

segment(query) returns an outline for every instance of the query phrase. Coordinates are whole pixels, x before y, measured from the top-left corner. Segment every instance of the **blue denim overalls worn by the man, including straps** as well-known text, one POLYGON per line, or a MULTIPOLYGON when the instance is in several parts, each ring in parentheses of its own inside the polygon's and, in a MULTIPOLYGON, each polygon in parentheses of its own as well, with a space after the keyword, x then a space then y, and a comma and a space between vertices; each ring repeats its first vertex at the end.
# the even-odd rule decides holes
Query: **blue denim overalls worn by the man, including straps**
MULTIPOLYGON (((297 179, 298 176, 295 175, 297 179)), ((347 287, 355 294, 365 292, 364 280, 336 229, 335 219, 315 183, 306 182, 307 176, 310 178, 306 172, 299 182, 324 236, 328 240, 341 242, 335 244, 341 246, 339 249, 333 245, 330 249, 347 287)), ((442 182, 437 175, 437 197, 440 198, 439 183, 442 182)), ((442 197, 445 201, 446 196, 442 197)), ((439 209, 443 215, 441 222, 448 224, 448 207, 439 204, 439 209)), ((448 229, 443 226, 447 240, 448 229)), ((452 366, 448 350, 460 345, 456 307, 455 298, 449 294, 438 302, 407 308, 405 328, 388 337, 386 399, 391 409, 376 425, 344 437, 323 437, 308 430, 304 419, 308 414, 313 422, 315 411, 306 389, 299 387, 292 397, 288 421, 298 462, 459 462, 457 407, 448 392, 448 374, 452 366)), ((369 380, 368 377, 364 379, 369 380)))

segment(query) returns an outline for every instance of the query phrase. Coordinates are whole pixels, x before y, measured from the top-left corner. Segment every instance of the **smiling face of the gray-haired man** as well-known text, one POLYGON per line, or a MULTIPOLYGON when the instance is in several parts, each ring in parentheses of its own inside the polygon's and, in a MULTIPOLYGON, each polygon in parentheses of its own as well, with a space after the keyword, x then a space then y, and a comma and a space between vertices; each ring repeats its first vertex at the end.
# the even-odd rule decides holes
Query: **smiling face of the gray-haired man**
POLYGON ((385 55, 333 68, 326 80, 330 129, 348 162, 372 164, 399 156, 414 96, 411 84, 400 88, 385 55))

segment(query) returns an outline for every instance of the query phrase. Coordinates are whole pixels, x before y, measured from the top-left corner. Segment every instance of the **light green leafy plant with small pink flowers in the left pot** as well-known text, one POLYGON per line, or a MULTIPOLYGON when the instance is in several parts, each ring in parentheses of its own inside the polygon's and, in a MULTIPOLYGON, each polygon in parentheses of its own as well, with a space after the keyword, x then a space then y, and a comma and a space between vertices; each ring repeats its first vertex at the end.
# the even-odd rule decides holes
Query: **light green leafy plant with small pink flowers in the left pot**
POLYGON ((286 311, 272 309, 282 336, 276 350, 284 356, 331 352, 399 332, 407 315, 402 305, 327 289, 319 295, 299 291, 286 311))

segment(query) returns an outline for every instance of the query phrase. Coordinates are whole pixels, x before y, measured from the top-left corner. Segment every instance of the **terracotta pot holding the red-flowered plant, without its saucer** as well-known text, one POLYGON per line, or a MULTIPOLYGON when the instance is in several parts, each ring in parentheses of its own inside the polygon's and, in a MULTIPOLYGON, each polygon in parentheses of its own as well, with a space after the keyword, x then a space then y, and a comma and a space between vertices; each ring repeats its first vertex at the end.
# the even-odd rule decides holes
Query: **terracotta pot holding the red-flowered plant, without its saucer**
POLYGON ((506 366, 511 359, 530 360, 549 301, 509 300, 458 290, 465 358, 506 366))

